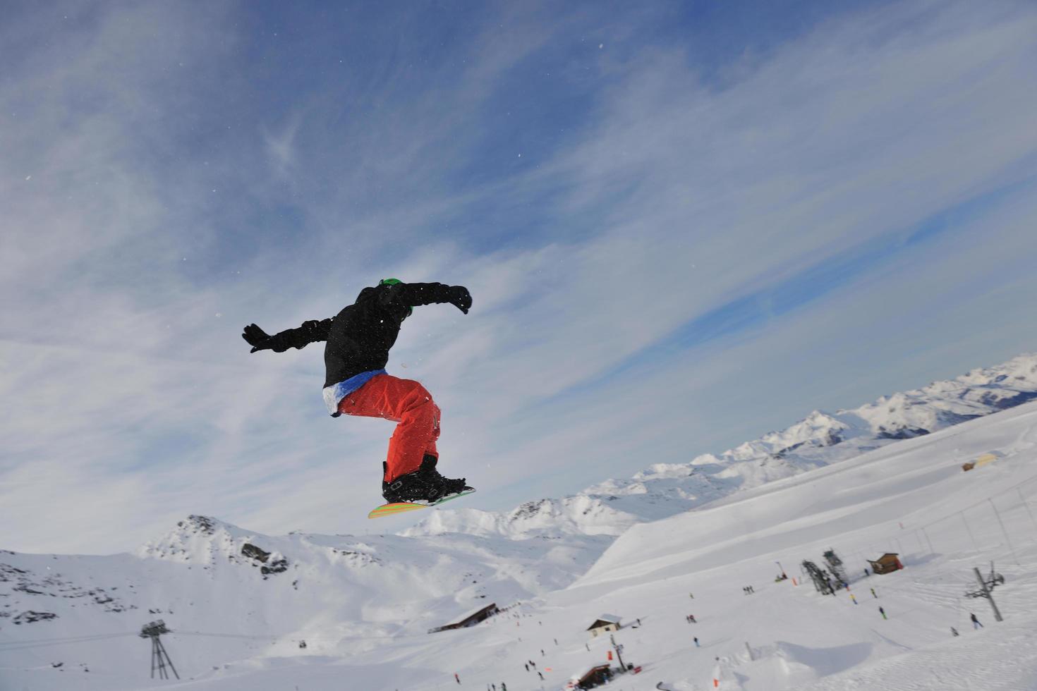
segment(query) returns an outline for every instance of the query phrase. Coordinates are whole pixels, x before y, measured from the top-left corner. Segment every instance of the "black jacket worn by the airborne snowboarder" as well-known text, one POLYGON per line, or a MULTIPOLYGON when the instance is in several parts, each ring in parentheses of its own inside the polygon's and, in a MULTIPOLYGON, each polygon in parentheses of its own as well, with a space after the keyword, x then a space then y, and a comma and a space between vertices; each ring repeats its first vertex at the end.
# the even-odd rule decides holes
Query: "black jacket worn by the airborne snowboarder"
POLYGON ((277 351, 325 345, 325 388, 363 372, 385 369, 389 349, 411 308, 449 303, 451 286, 442 283, 397 283, 364 288, 357 300, 331 319, 305 321, 271 337, 277 351))

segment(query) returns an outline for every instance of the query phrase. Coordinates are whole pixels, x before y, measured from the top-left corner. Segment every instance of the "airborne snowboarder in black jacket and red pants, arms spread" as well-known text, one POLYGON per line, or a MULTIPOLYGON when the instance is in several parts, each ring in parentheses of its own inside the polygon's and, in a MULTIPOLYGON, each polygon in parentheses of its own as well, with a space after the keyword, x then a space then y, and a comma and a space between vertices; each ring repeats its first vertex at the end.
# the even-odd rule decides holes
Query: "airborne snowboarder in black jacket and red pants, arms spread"
POLYGON ((436 469, 440 408, 431 395, 417 381, 385 370, 400 324, 413 308, 433 303, 449 303, 468 314, 472 296, 464 286, 383 279, 331 319, 306 321, 274 336, 249 324, 242 334, 251 352, 284 352, 327 341, 324 399, 332 418, 344 413, 397 423, 382 464, 382 496, 390 503, 432 502, 471 489, 464 478, 444 478, 436 469))

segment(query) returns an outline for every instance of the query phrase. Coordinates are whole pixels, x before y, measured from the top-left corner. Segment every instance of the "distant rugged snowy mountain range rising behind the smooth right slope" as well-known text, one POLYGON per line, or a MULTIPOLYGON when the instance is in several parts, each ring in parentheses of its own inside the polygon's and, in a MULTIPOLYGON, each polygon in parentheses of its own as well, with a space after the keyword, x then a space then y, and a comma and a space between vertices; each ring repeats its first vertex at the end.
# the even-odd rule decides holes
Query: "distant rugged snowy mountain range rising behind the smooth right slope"
POLYGON ((1035 399, 1037 353, 1022 354, 850 410, 814 410, 782 431, 722 454, 702 454, 688 463, 656 463, 633 478, 606 480, 572 496, 529 501, 506 513, 438 511, 404 535, 619 535, 640 521, 673 516, 1035 399))

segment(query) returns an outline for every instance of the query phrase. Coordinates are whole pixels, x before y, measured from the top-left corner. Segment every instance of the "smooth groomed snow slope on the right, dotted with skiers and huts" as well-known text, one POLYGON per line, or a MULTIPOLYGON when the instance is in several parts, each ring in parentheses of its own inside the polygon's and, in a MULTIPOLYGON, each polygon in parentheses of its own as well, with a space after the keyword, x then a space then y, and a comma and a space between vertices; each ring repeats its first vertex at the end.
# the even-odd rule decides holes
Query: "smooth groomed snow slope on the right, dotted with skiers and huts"
POLYGON ((1030 404, 637 525, 550 602, 641 612, 644 632, 624 642, 650 651, 653 679, 673 689, 706 688, 717 656, 721 688, 1037 688, 1037 641, 1028 634, 1037 624, 1037 525, 1022 501, 1037 505, 1035 443, 1030 404), (978 470, 956 462, 992 450, 1006 455, 978 470), (767 578, 781 563, 798 579, 798 562, 823 565, 830 547, 846 562, 859 604, 842 591, 820 596, 809 581, 767 578), (887 550, 900 552, 905 570, 865 578, 865 557, 887 550), (996 591, 1002 624, 985 601, 961 597, 976 586, 972 568, 987 571, 991 558, 1007 576, 996 591), (741 584, 756 593, 742 595, 741 584), (699 624, 674 628, 674 605, 699 624), (971 630, 972 611, 986 628, 971 630), (656 618, 672 638, 649 634, 656 618), (691 635, 707 655, 688 650, 691 635))

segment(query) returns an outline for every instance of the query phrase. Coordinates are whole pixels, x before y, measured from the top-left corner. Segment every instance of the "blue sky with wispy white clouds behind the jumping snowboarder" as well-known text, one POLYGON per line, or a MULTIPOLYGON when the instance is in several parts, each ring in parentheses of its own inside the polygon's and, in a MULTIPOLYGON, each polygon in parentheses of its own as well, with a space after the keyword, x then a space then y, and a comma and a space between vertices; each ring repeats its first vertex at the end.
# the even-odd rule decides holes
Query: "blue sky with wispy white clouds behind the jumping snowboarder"
POLYGON ((390 369, 487 510, 1037 347, 1032 3, 5 17, 0 547, 402 527, 391 426, 239 336, 387 276, 472 290, 390 369))

